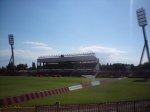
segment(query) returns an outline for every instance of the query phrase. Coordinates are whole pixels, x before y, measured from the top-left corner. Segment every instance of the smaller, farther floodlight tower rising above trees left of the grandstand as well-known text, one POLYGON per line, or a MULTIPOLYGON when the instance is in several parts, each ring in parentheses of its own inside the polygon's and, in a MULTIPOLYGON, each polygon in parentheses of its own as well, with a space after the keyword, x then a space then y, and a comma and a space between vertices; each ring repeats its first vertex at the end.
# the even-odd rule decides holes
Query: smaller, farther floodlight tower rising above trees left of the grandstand
POLYGON ((12 69, 15 70, 15 61, 14 61, 14 37, 13 34, 8 35, 9 45, 11 46, 11 58, 9 61, 9 65, 11 65, 12 69))

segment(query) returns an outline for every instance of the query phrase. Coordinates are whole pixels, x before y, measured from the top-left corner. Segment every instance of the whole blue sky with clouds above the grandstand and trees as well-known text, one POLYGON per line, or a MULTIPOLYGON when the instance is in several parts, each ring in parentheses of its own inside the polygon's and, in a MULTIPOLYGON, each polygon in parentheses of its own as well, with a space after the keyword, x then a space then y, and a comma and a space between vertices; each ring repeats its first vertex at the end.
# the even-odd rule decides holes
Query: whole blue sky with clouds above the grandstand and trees
MULTIPOLYGON (((95 52, 101 63, 139 64, 144 45, 136 10, 150 0, 0 0, 0 66, 11 57, 31 65, 38 56, 95 52)), ((150 45, 150 27, 146 26, 150 45)), ((147 61, 146 55, 144 61, 147 61)))

